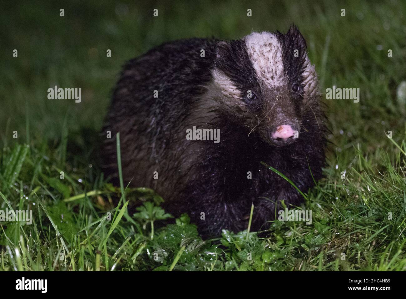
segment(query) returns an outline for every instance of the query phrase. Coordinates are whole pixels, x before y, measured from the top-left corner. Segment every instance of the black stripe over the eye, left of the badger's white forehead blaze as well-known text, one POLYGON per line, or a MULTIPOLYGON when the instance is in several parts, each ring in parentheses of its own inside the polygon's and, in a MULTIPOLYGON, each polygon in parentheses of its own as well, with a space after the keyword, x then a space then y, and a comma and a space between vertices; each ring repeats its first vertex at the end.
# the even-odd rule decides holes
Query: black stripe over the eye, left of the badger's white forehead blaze
POLYGON ((259 93, 259 84, 245 41, 233 40, 218 43, 214 66, 222 70, 235 83, 242 95, 245 95, 247 90, 259 93))

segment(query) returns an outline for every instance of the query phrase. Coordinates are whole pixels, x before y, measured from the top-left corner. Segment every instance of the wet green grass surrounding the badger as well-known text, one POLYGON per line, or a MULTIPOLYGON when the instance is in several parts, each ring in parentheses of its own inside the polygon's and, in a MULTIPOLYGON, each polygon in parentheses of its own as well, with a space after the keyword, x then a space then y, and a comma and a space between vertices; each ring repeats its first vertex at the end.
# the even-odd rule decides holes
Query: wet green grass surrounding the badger
POLYGON ((33 223, 0 222, 0 270, 406 269, 406 104, 397 95, 406 81, 404 1, 134 3, 4 4, 0 210, 32 210, 33 223), (203 241, 187 215, 167 224, 153 190, 106 181, 92 152, 125 60, 172 39, 237 39, 292 23, 321 91, 361 92, 359 103, 323 100, 333 144, 325 179, 304 194, 311 225, 276 220, 266 237, 225 231, 203 241), (82 103, 48 100, 54 85, 82 87, 82 103), (130 215, 133 201, 143 205, 130 215))

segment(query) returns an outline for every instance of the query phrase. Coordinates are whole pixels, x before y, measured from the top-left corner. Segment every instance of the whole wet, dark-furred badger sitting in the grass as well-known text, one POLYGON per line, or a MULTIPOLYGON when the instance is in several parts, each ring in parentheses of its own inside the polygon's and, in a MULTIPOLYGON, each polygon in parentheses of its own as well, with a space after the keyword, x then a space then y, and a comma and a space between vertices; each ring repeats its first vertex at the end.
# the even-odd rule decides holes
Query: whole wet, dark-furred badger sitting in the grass
MULTIPOLYGON (((188 213, 203 236, 246 229, 252 203, 251 230, 265 229, 281 200, 300 205, 297 190, 260 162, 303 192, 322 176, 324 113, 306 49, 291 26, 173 41, 129 61, 103 130, 120 132, 124 180, 156 190, 167 212, 188 213), (220 142, 187 140, 193 127, 220 129, 220 142)), ((117 178, 115 138, 103 155, 117 178)))

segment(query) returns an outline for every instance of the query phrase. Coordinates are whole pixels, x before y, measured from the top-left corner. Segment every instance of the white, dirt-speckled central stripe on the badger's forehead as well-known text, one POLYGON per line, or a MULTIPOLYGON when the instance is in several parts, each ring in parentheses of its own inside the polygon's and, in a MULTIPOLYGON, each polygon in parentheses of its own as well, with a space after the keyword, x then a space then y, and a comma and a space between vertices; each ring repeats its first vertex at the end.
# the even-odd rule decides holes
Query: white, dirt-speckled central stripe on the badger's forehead
POLYGON ((244 40, 257 78, 269 88, 284 85, 287 80, 283 72, 282 47, 277 37, 269 32, 253 32, 244 40))

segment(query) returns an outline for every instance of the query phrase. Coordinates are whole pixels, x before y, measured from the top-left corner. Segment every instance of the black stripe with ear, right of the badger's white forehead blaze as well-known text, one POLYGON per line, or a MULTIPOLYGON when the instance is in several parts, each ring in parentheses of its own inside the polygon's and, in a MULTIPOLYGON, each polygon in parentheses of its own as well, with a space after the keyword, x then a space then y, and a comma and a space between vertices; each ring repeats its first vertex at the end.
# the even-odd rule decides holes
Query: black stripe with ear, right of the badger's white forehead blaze
POLYGON ((286 34, 279 31, 275 34, 282 47, 283 68, 289 83, 290 85, 299 84, 303 91, 302 74, 306 66, 306 41, 296 26, 291 26, 286 34), (298 57, 295 57, 295 50, 298 50, 298 55, 296 55, 298 57))

